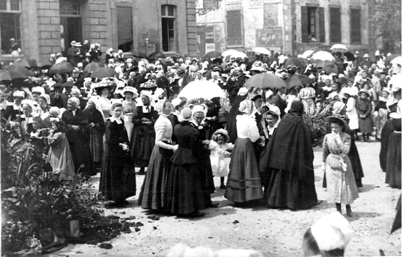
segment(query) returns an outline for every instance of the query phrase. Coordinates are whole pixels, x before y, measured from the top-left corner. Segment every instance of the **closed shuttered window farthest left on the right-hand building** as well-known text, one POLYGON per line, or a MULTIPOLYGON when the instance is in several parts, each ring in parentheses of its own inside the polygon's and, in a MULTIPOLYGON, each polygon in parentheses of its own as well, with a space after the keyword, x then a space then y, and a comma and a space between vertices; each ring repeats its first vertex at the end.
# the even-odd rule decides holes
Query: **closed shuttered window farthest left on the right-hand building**
POLYGON ((227 45, 242 46, 243 45, 243 17, 241 10, 227 11, 227 45))

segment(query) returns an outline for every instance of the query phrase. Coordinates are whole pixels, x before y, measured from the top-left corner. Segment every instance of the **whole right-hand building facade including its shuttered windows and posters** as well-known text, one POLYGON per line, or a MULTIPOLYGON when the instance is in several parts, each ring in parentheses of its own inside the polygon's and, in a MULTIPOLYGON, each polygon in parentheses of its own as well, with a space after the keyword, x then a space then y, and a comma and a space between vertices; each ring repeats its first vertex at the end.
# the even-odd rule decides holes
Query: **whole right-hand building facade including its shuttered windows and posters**
POLYGON ((297 55, 305 50, 329 50, 334 44, 344 44, 351 51, 368 52, 369 12, 364 2, 199 0, 198 55, 214 50, 244 51, 255 47, 297 55), (211 7, 215 10, 199 15, 211 7))

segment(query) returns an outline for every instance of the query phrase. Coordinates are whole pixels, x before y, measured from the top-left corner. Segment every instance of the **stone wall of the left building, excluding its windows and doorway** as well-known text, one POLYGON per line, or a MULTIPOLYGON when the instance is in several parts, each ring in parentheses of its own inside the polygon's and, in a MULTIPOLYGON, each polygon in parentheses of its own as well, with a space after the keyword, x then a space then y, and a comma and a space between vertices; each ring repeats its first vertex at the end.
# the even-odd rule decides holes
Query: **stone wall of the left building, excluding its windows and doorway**
MULTIPOLYGON (((61 52, 60 1, 63 0, 20 1, 21 45, 25 58, 40 61, 61 52)), ((102 52, 110 47, 115 51, 118 48, 116 7, 131 7, 132 50, 147 55, 162 52, 161 5, 175 5, 176 51, 165 54, 197 55, 195 0, 82 0, 79 3, 82 41, 99 43, 102 52)), ((0 60, 13 59, 10 55, 0 55, 0 60)))

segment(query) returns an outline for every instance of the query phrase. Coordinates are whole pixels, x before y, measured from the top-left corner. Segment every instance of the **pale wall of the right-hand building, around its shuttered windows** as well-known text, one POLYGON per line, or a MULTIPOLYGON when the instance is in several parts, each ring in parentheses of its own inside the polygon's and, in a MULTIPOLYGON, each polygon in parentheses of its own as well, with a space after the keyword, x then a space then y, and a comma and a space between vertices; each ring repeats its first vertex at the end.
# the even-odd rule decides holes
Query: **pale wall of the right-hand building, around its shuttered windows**
MULTIPOLYGON (((215 50, 224 52, 233 49, 227 46, 226 12, 229 10, 242 10, 243 18, 243 45, 237 50, 252 50, 255 47, 265 47, 276 52, 297 55, 305 50, 329 50, 333 45, 330 42, 329 7, 341 7, 341 40, 351 51, 369 48, 368 7, 363 0, 222 0, 219 9, 206 15, 197 15, 198 31, 202 33, 203 27, 223 27, 220 41, 215 39, 215 50), (324 43, 302 42, 302 15, 301 6, 315 4, 324 8, 325 33, 324 43), (272 12, 271 7, 278 7, 272 12), (360 8, 361 14, 361 44, 350 44, 350 7, 360 8), (274 22, 264 21, 265 12, 272 14, 274 22), (276 16, 276 17, 274 17, 276 16)), ((199 0, 197 7, 203 8, 203 1, 199 0)), ((271 17, 271 16, 269 16, 271 17)), ((201 34, 199 35, 201 37, 201 34)), ((204 39, 200 39, 204 41, 204 39)), ((199 49, 200 54, 205 49, 199 49)))

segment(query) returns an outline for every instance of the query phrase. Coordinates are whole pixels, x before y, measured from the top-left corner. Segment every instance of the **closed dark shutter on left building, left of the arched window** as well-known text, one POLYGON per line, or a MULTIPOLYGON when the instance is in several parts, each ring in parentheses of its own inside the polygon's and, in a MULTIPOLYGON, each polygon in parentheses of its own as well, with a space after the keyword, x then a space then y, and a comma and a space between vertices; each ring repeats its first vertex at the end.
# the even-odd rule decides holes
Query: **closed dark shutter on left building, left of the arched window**
POLYGON ((132 9, 131 7, 116 8, 118 45, 133 41, 132 39, 132 9))

